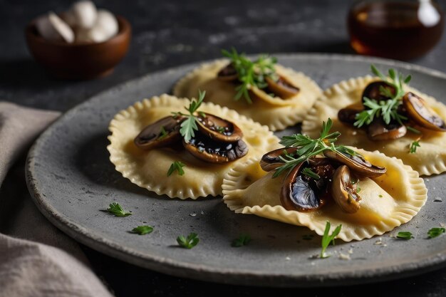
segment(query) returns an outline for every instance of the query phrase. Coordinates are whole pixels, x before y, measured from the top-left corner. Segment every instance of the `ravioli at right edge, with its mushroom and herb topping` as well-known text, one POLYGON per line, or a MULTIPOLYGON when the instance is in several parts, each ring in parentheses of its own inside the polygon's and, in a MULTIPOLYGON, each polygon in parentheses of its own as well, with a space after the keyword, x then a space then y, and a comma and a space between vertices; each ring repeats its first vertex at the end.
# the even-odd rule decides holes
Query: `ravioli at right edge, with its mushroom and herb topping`
POLYGON ((323 119, 332 118, 333 128, 342 133, 339 143, 343 145, 379 150, 390 157, 397 157, 420 175, 445 172, 446 106, 404 84, 401 85, 400 97, 388 100, 395 95, 395 89, 387 82, 386 78, 365 76, 333 85, 306 115, 302 132, 316 137, 323 119), (371 114, 378 109, 381 113, 386 106, 390 108, 388 123, 382 114, 367 123, 370 117, 365 113, 371 114), (392 115, 397 115, 396 119, 392 115))

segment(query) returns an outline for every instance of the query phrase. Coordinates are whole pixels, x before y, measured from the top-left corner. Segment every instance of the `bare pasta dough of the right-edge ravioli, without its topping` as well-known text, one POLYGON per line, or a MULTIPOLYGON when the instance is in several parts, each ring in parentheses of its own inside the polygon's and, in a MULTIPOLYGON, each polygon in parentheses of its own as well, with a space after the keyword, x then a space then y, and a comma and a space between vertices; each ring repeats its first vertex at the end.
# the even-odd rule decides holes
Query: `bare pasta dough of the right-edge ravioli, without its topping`
MULTIPOLYGON (((403 160, 404 164, 410 165, 421 175, 445 172, 445 132, 435 132, 415 126, 417 130, 422 132, 422 137, 419 140, 420 147, 417 148, 415 153, 410 153, 410 145, 420 137, 414 132, 408 131, 405 136, 396 140, 370 140, 365 130, 341 123, 338 120, 338 111, 347 105, 359 103, 365 86, 375 80, 378 80, 378 78, 371 76, 344 80, 326 90, 302 123, 302 133, 310 137, 318 137, 322 122, 331 118, 333 120, 333 131, 342 133, 338 138, 337 143, 339 145, 351 145, 370 151, 379 150, 385 155, 403 160)), ((446 119, 446 106, 444 104, 413 88, 405 87, 405 91, 419 95, 432 110, 435 110, 441 118, 446 119)))

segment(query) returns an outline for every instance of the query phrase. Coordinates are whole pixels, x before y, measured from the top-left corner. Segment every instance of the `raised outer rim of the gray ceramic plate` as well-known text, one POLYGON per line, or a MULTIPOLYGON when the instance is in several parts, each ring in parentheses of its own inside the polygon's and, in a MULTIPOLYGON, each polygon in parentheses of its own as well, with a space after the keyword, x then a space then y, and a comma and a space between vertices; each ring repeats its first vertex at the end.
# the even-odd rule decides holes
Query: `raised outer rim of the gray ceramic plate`
MULTIPOLYGON (((418 66, 415 64, 394 61, 384 58, 375 58, 368 56, 355 56, 333 53, 271 53, 276 56, 280 61, 281 58, 311 58, 318 60, 331 60, 331 61, 348 61, 348 62, 368 62, 368 63, 380 63, 388 66, 398 66, 408 70, 418 71, 427 75, 435 76, 446 80, 446 73, 437 71, 424 66, 418 66)), ((256 56, 249 55, 249 56, 256 56)), ((408 276, 415 276, 435 269, 446 267, 446 248, 435 255, 429 255, 418 261, 408 261, 404 264, 395 264, 392 266, 386 266, 380 269, 364 269, 361 271, 341 271, 338 273, 313 273, 309 275, 285 275, 283 273, 262 273, 262 271, 250 271, 241 269, 214 269, 212 266, 205 266, 201 264, 192 264, 185 261, 176 261, 168 259, 156 254, 141 254, 138 251, 130 249, 120 244, 95 234, 93 230, 86 229, 83 226, 73 222, 64 214, 58 212, 45 200, 43 193, 39 191, 38 180, 34 178, 34 159, 38 155, 38 150, 44 145, 44 141, 49 137, 57 127, 59 123, 72 116, 79 109, 82 109, 85 105, 95 102, 95 99, 102 97, 108 93, 114 93, 115 90, 123 88, 129 88, 131 85, 138 83, 143 79, 155 78, 160 75, 167 75, 167 73, 185 72, 187 68, 197 67, 201 63, 207 63, 207 61, 195 61, 187 63, 181 66, 175 66, 172 68, 165 68, 160 71, 141 75, 138 78, 125 81, 118 85, 103 90, 90 98, 86 99, 82 103, 74 106, 73 108, 63 113, 54 123, 52 123, 33 143, 31 149, 26 157, 26 184, 28 191, 31 194, 33 202, 39 211, 54 224, 58 229, 61 229, 64 233, 71 236, 81 244, 89 246, 91 249, 100 251, 103 254, 113 256, 121 261, 141 266, 146 269, 158 271, 161 273, 170 274, 173 276, 180 276, 184 278, 193 278, 201 281, 214 281, 218 283, 231 283, 234 285, 249 285, 249 286, 276 286, 276 287, 314 287, 314 286, 346 286, 353 284, 373 283, 376 281, 389 281, 397 278, 403 278, 408 276), (143 260, 143 261, 142 261, 143 260), (203 273, 206 273, 206 278, 203 277, 203 273), (342 281, 342 283, 339 283, 342 281)), ((175 82, 172 82, 172 85, 175 82)), ((171 91, 171 90, 170 90, 171 91)))

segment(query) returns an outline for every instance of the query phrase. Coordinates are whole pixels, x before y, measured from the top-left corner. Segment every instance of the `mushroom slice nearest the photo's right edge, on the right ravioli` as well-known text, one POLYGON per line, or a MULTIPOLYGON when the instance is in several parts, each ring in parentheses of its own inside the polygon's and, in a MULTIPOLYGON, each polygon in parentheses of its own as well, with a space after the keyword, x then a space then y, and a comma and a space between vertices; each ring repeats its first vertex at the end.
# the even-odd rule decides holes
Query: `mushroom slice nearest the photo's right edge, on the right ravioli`
POLYGON ((403 97, 403 105, 410 119, 421 127, 429 130, 446 131, 445 121, 429 108, 425 100, 414 93, 406 93, 403 97))

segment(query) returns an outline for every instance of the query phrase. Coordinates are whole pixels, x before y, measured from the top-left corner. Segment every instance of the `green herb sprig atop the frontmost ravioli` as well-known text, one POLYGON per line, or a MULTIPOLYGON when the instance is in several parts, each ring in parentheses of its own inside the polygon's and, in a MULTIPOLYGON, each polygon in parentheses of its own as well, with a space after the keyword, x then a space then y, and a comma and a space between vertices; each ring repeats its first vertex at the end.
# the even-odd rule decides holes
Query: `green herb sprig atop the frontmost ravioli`
POLYGON ((331 118, 328 118, 327 123, 322 123, 321 135, 318 139, 314 140, 307 135, 294 134, 291 136, 284 136, 281 138, 280 144, 286 147, 298 147, 299 149, 294 154, 281 155, 279 158, 284 162, 284 165, 278 167, 274 172, 273 177, 278 177, 282 172, 290 172, 296 165, 301 162, 308 161, 311 157, 319 155, 326 150, 332 152, 341 152, 349 155, 356 155, 356 152, 344 147, 343 145, 334 145, 334 142, 338 140, 341 135, 340 132, 330 132, 333 122, 331 118))

